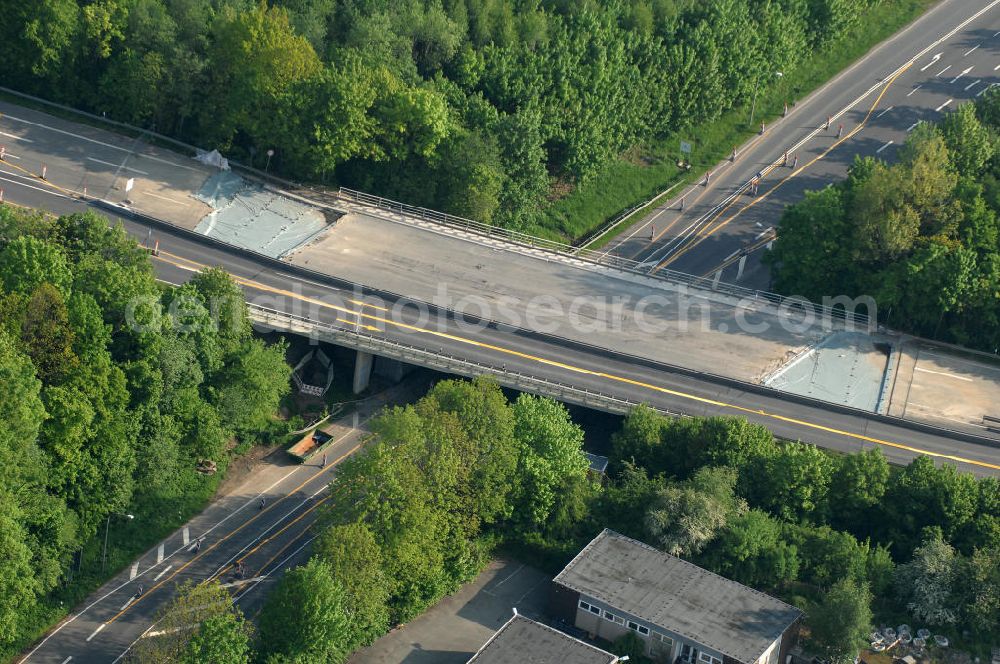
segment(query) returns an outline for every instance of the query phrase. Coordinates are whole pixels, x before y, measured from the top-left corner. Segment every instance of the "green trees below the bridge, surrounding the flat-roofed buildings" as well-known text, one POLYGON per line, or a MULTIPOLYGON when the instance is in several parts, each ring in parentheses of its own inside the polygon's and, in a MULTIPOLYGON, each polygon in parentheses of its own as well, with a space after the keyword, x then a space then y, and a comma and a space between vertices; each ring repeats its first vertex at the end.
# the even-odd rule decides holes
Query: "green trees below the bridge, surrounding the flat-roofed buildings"
POLYGON ((209 630, 243 653, 234 663, 343 662, 471 580, 498 548, 555 573, 604 527, 802 607, 810 649, 838 663, 853 661, 876 621, 930 625, 976 652, 1000 630, 995 479, 640 408, 613 437, 602 484, 563 406, 510 402, 487 379, 440 382, 373 427, 331 484, 312 559, 268 597, 259 638, 219 602, 167 650, 147 644, 155 652, 141 662, 194 661, 185 657, 209 630))

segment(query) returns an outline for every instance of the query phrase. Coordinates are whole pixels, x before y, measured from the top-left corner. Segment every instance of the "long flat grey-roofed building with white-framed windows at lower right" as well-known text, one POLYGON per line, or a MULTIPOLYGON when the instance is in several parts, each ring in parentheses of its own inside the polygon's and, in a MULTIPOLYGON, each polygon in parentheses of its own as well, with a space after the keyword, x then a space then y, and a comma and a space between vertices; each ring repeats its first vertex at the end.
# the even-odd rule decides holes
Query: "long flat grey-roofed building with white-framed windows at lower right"
POLYGON ((592 637, 629 630, 647 654, 689 664, 778 664, 802 612, 612 530, 552 581, 552 610, 592 637))

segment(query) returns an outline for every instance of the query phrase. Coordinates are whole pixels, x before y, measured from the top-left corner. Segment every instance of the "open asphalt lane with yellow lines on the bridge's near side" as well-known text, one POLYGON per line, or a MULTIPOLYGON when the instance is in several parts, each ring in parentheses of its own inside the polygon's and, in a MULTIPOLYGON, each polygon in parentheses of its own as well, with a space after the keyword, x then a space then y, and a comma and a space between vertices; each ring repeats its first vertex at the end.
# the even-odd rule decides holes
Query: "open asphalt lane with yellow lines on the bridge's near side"
MULTIPOLYGON (((21 182, 23 186, 16 187, 8 182, 8 200, 16 198, 24 205, 47 207, 59 213, 83 205, 73 199, 53 197, 44 184, 21 182)), ((145 239, 149 233, 141 222, 125 221, 125 226, 137 238, 145 239)), ((249 300, 312 320, 351 328, 363 325, 390 340, 472 358, 509 372, 647 402, 673 412, 742 415, 779 436, 834 450, 880 446, 897 463, 929 454, 938 461, 950 460, 962 470, 1000 475, 1000 447, 959 440, 943 431, 916 431, 863 413, 839 414, 826 405, 789 401, 777 393, 746 392, 683 375, 654 362, 611 355, 599 348, 582 348, 560 338, 526 335, 510 328, 470 332, 450 317, 428 319, 413 307, 399 307, 361 287, 340 288, 320 275, 317 280, 303 279, 290 269, 237 255, 176 231, 155 229, 153 237, 160 240, 157 272, 170 282, 184 281, 204 266, 221 265, 241 283, 249 300)))

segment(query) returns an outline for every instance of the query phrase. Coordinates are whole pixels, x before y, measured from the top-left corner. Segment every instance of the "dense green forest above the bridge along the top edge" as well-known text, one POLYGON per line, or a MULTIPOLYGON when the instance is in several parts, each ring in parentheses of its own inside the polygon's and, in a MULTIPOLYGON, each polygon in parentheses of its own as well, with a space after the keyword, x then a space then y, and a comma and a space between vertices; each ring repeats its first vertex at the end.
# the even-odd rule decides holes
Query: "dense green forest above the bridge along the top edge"
MULTIPOLYGON (((524 228, 624 151, 748 103, 880 0, 0 0, 0 80, 524 228)), ((728 150, 728 146, 726 147, 728 150)))

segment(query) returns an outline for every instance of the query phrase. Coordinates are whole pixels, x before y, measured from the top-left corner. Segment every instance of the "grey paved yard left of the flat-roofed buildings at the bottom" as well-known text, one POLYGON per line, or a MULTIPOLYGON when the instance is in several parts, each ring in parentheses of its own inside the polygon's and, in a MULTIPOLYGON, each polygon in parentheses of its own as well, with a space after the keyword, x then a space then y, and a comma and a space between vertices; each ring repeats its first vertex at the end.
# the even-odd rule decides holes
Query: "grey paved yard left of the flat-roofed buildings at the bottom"
POLYGON ((551 580, 517 561, 494 560, 472 583, 355 653, 350 664, 465 664, 514 608, 543 618, 551 580))

